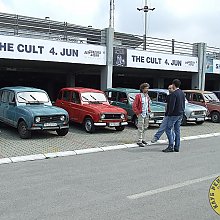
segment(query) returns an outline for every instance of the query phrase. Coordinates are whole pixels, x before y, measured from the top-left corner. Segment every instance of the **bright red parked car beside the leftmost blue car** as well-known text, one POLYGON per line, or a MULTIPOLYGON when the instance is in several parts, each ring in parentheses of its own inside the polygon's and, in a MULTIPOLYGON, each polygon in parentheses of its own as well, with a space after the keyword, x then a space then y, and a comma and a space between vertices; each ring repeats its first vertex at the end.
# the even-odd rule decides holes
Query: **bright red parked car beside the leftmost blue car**
POLYGON ((55 102, 64 108, 70 121, 83 124, 86 132, 93 133, 96 127, 115 127, 124 130, 127 113, 124 109, 109 104, 105 93, 89 88, 63 88, 55 102))

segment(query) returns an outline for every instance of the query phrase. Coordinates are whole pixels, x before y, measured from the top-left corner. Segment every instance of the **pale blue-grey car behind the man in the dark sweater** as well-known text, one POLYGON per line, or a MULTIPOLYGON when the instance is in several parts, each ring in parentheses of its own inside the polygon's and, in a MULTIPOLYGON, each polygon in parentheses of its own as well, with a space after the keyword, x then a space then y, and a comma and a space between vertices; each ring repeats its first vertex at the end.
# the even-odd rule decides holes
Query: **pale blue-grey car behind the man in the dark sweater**
MULTIPOLYGON (((152 101, 155 101, 165 106, 169 91, 168 89, 149 89, 148 94, 152 101)), ((190 104, 186 99, 182 125, 186 125, 187 122, 195 122, 196 124, 201 125, 204 123, 206 115, 207 109, 205 107, 190 104)))

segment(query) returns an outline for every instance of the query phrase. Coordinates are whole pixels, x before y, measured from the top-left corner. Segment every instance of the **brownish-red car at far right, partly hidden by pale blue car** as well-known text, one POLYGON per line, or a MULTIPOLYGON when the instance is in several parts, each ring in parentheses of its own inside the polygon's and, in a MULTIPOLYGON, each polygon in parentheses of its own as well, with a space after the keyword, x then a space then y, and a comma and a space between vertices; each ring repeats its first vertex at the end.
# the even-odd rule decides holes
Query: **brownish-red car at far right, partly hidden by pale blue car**
POLYGON ((201 90, 184 90, 190 103, 204 106, 208 109, 207 115, 212 122, 220 122, 220 101, 213 92, 201 90))

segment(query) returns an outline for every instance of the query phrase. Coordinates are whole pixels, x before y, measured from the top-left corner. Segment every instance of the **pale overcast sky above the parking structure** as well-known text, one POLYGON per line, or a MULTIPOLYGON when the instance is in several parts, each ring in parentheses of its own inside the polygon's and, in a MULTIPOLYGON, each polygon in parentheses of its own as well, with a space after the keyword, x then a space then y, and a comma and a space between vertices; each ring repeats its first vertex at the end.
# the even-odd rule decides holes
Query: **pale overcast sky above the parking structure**
MULTIPOLYGON (((110 0, 0 0, 0 11, 94 28, 109 24, 110 0)), ((144 34, 144 0, 115 0, 115 30, 144 34)), ((220 47, 220 0, 148 0, 148 36, 220 47)))

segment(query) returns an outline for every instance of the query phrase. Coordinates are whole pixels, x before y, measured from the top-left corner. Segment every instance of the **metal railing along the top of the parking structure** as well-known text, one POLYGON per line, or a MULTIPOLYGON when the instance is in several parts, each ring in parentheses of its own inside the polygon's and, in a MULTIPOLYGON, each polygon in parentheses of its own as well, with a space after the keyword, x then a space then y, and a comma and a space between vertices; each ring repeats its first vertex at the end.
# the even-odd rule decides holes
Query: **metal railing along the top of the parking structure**
MULTIPOLYGON (((105 45, 105 30, 83 27, 67 22, 52 21, 15 14, 0 13, 0 35, 67 41, 72 43, 105 45)), ((140 35, 114 33, 114 46, 144 49, 145 39, 140 35)), ((147 37, 146 51, 176 55, 198 56, 197 44, 147 37)), ((220 49, 207 47, 207 54, 220 59, 220 49)))

